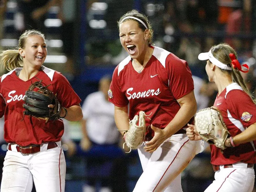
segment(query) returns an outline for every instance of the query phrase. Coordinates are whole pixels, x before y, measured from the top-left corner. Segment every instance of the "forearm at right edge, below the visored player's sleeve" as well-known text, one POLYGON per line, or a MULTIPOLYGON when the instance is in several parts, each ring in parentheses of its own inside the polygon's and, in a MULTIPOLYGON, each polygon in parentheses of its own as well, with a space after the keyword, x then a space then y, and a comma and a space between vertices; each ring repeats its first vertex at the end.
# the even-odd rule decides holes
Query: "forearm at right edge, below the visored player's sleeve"
POLYGON ((233 137, 235 145, 256 140, 256 123, 250 125, 246 130, 233 137))

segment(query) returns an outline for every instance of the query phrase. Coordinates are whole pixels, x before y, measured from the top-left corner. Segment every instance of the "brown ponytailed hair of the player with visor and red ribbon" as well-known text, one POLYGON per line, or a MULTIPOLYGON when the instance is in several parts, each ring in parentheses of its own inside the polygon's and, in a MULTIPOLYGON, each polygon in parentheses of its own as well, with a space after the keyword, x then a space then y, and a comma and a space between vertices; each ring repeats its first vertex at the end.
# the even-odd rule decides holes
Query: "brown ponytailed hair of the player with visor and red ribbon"
POLYGON ((250 93, 246 83, 244 82, 244 79, 241 76, 240 71, 238 69, 234 69, 231 66, 231 59, 229 57, 229 53, 234 53, 236 56, 236 59, 237 59, 236 51, 229 44, 221 43, 221 44, 212 46, 211 52, 212 52, 212 55, 216 59, 218 59, 221 63, 224 63, 232 68, 232 70, 224 70, 221 68, 220 69, 222 72, 231 74, 233 82, 239 84, 243 88, 244 92, 246 92, 251 97, 253 102, 256 103, 256 101, 253 99, 252 94, 250 93))

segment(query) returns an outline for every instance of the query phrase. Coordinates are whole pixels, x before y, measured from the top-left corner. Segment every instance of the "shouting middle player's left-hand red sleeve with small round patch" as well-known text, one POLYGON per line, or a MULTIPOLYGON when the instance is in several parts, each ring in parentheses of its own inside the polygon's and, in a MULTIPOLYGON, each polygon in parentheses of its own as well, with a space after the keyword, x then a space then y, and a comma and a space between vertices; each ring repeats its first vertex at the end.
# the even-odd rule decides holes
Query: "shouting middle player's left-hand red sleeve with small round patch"
POLYGON ((124 107, 129 103, 125 93, 121 91, 120 77, 118 76, 118 66, 113 72, 112 81, 108 90, 108 100, 117 107, 124 107))

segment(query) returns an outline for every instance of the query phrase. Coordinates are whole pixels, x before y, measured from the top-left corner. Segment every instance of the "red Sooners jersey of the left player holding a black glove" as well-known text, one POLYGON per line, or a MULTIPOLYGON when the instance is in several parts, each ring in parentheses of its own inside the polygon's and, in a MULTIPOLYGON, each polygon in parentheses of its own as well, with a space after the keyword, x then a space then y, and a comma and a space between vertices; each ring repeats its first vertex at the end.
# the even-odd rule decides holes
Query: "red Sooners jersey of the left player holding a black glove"
POLYGON ((80 98, 60 72, 42 66, 42 70, 36 76, 23 81, 16 75, 16 70, 21 69, 16 68, 1 76, 0 116, 4 115, 4 140, 20 146, 59 141, 64 132, 61 119, 45 123, 45 120, 23 115, 25 92, 31 83, 40 79, 43 80, 42 84, 50 84, 47 88, 57 94, 56 97, 63 107, 78 105, 81 102, 80 98))

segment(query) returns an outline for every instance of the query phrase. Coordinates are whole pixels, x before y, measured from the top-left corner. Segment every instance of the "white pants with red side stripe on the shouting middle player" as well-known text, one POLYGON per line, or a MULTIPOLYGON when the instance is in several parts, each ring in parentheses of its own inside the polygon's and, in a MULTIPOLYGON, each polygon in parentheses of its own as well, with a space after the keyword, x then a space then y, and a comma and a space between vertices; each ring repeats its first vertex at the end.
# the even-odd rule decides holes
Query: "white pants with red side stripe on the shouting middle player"
POLYGON ((143 173, 133 192, 182 192, 181 172, 197 153, 204 150, 204 142, 190 141, 186 134, 172 135, 153 153, 138 149, 143 173))

